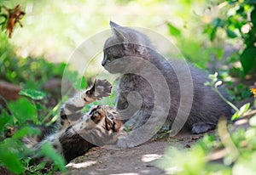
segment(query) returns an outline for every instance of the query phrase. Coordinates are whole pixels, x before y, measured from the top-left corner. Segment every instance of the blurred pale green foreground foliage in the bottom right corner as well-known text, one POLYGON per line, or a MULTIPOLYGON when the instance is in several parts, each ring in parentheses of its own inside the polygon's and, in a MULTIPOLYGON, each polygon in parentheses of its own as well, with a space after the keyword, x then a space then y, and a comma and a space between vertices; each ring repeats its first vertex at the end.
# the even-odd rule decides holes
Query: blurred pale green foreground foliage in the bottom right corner
POLYGON ((189 150, 170 147, 158 165, 167 174, 254 174, 255 121, 256 116, 253 116, 247 129, 240 127, 236 131, 218 126, 222 133, 206 134, 189 150))

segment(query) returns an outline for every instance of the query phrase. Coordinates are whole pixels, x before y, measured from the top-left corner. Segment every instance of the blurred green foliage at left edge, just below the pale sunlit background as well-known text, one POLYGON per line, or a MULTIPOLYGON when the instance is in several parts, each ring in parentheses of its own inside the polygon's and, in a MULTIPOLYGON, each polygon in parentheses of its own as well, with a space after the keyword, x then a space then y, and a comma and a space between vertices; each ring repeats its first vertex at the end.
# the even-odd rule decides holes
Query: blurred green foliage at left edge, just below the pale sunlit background
POLYGON ((64 63, 53 64, 43 58, 18 58, 3 31, 0 31, 0 42, 0 79, 21 88, 42 89, 49 77, 61 78, 66 68, 64 63))

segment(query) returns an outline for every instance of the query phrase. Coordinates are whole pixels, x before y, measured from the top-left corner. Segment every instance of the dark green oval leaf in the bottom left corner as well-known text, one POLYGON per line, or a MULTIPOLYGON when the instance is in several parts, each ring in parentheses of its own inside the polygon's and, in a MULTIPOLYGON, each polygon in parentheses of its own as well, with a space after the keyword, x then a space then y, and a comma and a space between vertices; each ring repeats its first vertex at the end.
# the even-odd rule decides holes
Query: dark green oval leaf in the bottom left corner
POLYGON ((2 161, 4 166, 11 172, 24 172, 24 167, 22 166, 18 156, 3 146, 0 147, 0 161, 2 161))

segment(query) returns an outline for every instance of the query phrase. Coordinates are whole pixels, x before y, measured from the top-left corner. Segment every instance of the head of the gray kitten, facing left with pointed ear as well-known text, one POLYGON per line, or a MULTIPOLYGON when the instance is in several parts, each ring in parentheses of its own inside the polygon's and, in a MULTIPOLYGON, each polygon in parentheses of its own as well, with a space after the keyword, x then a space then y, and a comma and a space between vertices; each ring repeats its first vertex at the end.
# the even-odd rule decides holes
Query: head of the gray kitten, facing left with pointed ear
POLYGON ((112 36, 104 44, 102 66, 110 73, 130 69, 131 59, 143 57, 148 48, 153 48, 148 37, 140 31, 117 25, 110 21, 112 36), (120 61, 118 61, 120 60, 120 61))

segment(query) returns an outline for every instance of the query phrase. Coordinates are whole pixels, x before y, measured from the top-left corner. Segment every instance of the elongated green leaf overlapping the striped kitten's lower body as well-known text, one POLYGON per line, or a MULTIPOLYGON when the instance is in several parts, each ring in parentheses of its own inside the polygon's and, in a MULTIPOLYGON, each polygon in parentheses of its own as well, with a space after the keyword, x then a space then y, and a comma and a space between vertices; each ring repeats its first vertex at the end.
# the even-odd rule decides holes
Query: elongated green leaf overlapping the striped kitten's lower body
POLYGON ((55 166, 60 168, 61 172, 66 171, 65 161, 61 155, 59 155, 55 149, 49 143, 44 143, 41 147, 41 152, 44 156, 49 157, 50 160, 54 161, 55 166))

